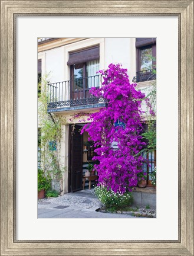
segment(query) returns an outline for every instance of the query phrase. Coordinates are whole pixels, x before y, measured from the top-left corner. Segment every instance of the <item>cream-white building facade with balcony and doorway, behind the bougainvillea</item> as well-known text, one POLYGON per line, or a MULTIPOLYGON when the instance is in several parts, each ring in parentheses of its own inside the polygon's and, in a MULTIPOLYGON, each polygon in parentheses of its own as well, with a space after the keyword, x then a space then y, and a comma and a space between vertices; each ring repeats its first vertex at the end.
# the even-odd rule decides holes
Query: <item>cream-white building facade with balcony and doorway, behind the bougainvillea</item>
MULTIPOLYGON (((97 73, 110 63, 127 68, 130 83, 146 94, 156 85, 156 39, 154 38, 45 38, 38 40, 38 81, 48 75, 48 113, 65 118, 61 127, 60 162, 66 167, 60 184, 62 194, 81 190, 88 162, 92 162, 94 148, 88 144, 88 134, 79 130, 86 124, 84 113, 105 107, 103 100, 90 94, 91 87, 100 87, 102 77, 97 73), (81 117, 80 113, 83 113, 81 117)), ((41 94, 41 88, 38 88, 41 94)), ((146 127, 145 114, 142 116, 146 127)), ((156 119, 156 117, 153 117, 156 119)), ((38 133, 41 127, 38 124, 38 133)), ((38 167, 41 149, 38 141, 38 167)), ((147 185, 152 187, 149 173, 156 166, 156 151, 146 156, 143 164, 148 173, 147 185)))

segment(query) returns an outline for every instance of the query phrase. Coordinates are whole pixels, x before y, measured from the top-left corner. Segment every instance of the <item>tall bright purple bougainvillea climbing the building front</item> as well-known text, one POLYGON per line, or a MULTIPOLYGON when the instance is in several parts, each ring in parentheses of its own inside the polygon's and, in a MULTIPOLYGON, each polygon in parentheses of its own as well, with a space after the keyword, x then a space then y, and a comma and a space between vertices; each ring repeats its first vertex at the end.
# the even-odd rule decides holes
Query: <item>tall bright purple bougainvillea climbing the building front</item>
POLYGON ((101 88, 91 88, 91 94, 103 98, 106 107, 91 113, 90 124, 83 127, 89 140, 96 147, 93 160, 98 172, 98 185, 104 185, 114 193, 131 191, 137 185, 137 173, 142 171, 140 151, 142 131, 141 103, 144 94, 136 90, 136 84, 130 84, 127 69, 120 64, 110 64, 103 75, 101 88), (118 125, 120 124, 120 125, 118 125), (113 146, 116 144, 117 146, 113 146))

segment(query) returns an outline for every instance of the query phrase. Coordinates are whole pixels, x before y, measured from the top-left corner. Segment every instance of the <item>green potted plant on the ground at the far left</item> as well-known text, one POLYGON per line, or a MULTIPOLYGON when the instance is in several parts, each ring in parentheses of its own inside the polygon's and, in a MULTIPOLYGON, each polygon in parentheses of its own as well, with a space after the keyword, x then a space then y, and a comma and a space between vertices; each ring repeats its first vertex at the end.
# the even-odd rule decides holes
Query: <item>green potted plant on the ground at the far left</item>
POLYGON ((38 199, 45 197, 45 191, 51 187, 50 175, 45 175, 45 172, 38 169, 38 199))

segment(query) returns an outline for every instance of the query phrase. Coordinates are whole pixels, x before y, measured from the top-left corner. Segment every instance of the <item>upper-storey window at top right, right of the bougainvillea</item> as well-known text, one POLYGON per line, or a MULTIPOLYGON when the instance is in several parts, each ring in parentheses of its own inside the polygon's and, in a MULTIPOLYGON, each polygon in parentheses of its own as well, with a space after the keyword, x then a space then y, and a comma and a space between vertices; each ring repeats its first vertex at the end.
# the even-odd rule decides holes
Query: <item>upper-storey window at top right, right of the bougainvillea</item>
POLYGON ((156 39, 137 38, 137 82, 156 79, 156 39))

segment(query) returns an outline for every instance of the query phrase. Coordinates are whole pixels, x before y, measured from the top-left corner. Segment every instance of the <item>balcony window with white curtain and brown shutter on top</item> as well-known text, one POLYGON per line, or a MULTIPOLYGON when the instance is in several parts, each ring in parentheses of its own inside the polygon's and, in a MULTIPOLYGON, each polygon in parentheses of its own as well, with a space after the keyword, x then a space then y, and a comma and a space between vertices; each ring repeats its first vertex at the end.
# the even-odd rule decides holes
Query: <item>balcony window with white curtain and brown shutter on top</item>
POLYGON ((100 86, 100 47, 70 53, 67 65, 70 66, 71 99, 90 97, 89 89, 100 86))

